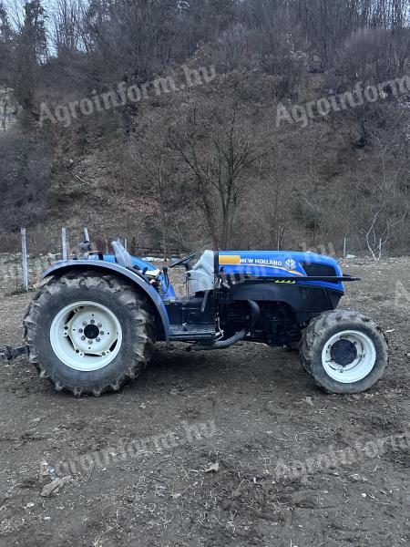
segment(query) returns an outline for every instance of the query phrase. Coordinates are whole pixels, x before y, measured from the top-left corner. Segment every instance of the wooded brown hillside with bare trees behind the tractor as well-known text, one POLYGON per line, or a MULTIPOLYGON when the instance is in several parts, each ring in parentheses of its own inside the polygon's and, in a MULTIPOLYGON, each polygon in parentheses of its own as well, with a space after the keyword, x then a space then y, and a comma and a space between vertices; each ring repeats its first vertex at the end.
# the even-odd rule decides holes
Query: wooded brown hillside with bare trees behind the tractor
MULTIPOLYGON (((205 4, 193 42, 181 42, 167 62, 160 47, 146 51, 144 70, 140 64, 133 75, 139 45, 116 65, 116 25, 121 16, 139 15, 124 5, 109 23, 109 3, 103 20, 98 2, 82 15, 92 40, 77 36, 69 50, 43 57, 33 88, 11 70, 22 111, 0 134, 3 250, 14 250, 22 225, 36 252, 46 252, 61 226, 74 243, 87 224, 98 244, 127 237, 136 251, 219 246, 340 253, 346 237, 354 253, 377 254, 380 243, 385 253, 405 252, 408 21, 391 35, 376 12, 368 15, 371 28, 352 19, 350 34, 337 37, 339 47, 336 27, 329 36, 321 27, 325 56, 312 29, 303 28, 315 3, 306 15, 289 6, 275 11, 274 3, 261 12, 251 3, 246 9, 221 3, 226 19, 212 27, 217 4, 205 4), (287 35, 295 21, 298 34, 287 35), (103 28, 113 37, 109 46, 101 42, 103 28)), ((41 15, 41 3, 33 5, 41 15)), ((173 14, 174 24, 184 28, 196 9, 173 14)), ((131 40, 125 21, 123 38, 131 40)), ((26 39, 24 32, 9 39, 12 56, 19 52, 13 53, 13 40, 26 39)), ((175 47, 172 36, 163 39, 175 47)))

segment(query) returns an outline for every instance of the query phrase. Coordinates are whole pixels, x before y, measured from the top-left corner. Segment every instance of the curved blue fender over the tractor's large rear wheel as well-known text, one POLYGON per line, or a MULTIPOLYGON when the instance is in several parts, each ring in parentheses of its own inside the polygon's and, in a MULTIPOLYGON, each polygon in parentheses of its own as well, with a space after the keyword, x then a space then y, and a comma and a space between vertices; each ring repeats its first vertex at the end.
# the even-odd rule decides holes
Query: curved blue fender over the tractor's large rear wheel
POLYGON ((50 268, 46 270, 46 272, 41 274, 40 279, 44 280, 46 279, 46 277, 51 277, 56 274, 66 274, 67 272, 72 270, 98 270, 105 271, 108 274, 115 273, 137 284, 138 287, 142 291, 144 291, 145 294, 147 294, 147 296, 149 297, 149 301, 151 302, 151 304, 153 304, 156 311, 155 319, 157 327, 161 327, 161 329, 163 329, 165 340, 167 344, 169 344, 170 326, 167 309, 154 287, 152 287, 144 279, 142 279, 140 275, 138 275, 136 272, 128 270, 128 268, 120 266, 117 263, 108 263, 102 260, 67 260, 64 262, 58 262, 53 264, 50 268))

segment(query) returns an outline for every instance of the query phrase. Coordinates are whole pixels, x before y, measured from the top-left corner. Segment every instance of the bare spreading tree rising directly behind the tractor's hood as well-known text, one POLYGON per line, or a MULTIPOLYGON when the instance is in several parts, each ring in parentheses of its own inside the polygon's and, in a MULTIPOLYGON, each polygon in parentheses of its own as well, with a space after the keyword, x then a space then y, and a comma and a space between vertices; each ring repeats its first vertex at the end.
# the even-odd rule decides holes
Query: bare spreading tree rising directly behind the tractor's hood
POLYGON ((229 248, 244 174, 268 151, 261 150, 255 134, 243 127, 235 109, 228 119, 219 108, 200 119, 194 107, 182 131, 169 131, 169 139, 196 181, 215 248, 229 248))

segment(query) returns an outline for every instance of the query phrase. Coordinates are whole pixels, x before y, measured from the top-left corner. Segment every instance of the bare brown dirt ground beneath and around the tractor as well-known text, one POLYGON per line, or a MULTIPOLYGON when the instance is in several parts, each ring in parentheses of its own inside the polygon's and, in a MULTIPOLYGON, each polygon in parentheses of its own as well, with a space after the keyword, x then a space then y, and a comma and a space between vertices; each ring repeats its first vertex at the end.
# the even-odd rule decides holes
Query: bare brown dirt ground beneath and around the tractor
MULTIPOLYGON (((408 443, 277 474, 283 463, 295 470, 295 461, 409 431, 410 259, 342 263, 363 279, 348 284, 343 307, 374 317, 390 341, 387 373, 360 395, 323 394, 296 354, 262 345, 208 354, 159 346, 142 377, 100 398, 56 394, 25 359, 0 364, 0 546, 409 545, 408 443), (188 439, 200 423, 212 434, 188 439), (42 477, 45 461, 169 431, 173 448, 77 472, 40 495, 54 476, 42 477)), ((0 344, 20 341, 30 297, 2 297, 0 344)))

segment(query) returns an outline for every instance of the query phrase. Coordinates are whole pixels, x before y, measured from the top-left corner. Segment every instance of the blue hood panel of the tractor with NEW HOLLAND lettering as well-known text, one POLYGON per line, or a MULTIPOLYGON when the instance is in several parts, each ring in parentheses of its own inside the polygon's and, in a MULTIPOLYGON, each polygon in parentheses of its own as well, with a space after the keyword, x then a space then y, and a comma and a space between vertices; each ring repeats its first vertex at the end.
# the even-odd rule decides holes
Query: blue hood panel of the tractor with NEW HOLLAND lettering
POLYGON ((319 286, 344 293, 342 282, 303 281, 303 276, 307 274, 302 263, 331 266, 335 276, 342 276, 339 264, 333 258, 323 254, 287 251, 220 251, 220 268, 223 266, 225 274, 294 277, 295 284, 319 286))

